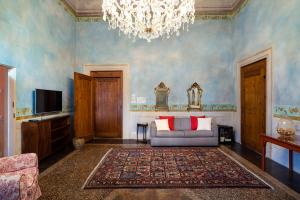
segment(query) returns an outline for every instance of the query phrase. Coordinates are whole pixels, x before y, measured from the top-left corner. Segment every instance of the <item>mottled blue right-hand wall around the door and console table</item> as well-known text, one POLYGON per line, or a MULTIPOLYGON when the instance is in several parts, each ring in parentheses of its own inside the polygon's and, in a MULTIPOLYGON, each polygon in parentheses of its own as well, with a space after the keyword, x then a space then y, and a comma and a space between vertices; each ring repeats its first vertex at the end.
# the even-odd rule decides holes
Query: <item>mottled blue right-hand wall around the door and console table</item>
MULTIPOLYGON (((300 116, 299 8, 299 0, 251 0, 233 21, 235 62, 272 47, 275 114, 300 116)), ((287 151, 274 149, 272 158, 287 165, 287 151)), ((294 163, 300 172, 299 154, 294 163)))

